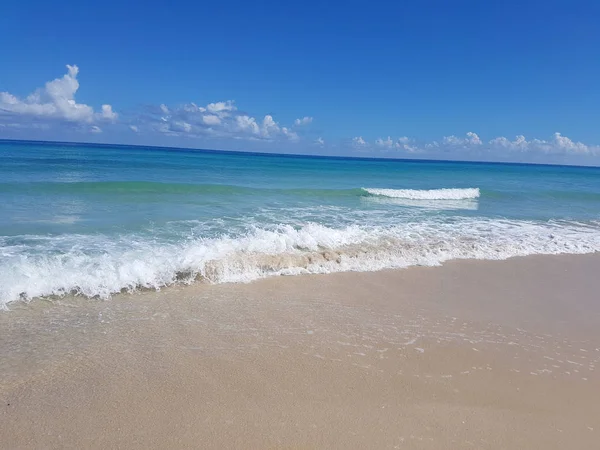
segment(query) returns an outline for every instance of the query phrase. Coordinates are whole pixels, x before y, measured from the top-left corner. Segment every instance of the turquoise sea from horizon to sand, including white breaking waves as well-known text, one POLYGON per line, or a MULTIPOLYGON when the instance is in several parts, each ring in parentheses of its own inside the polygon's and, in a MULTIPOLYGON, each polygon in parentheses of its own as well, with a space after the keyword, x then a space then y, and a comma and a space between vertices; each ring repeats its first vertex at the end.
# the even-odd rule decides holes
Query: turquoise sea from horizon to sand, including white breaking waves
POLYGON ((600 250, 600 169, 0 142, 0 304, 600 250))

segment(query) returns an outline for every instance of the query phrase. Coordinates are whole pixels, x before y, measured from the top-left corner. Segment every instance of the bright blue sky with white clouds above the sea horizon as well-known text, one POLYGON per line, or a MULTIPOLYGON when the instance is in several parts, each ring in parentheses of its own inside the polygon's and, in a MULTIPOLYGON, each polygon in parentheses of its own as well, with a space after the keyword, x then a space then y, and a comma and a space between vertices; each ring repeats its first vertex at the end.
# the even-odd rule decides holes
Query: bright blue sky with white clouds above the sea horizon
POLYGON ((3 5, 0 138, 600 164, 600 2, 287 3, 3 5))

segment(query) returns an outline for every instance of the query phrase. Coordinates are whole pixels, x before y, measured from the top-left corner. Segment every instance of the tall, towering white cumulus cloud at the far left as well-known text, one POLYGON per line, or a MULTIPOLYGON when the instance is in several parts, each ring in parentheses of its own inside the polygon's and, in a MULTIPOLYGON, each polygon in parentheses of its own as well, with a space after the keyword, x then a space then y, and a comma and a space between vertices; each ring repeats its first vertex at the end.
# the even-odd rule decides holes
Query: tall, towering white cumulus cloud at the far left
MULTIPOLYGON (((75 94, 79 89, 79 68, 67 65, 67 73, 48 81, 44 87, 21 99, 9 92, 0 92, 0 121, 13 124, 28 122, 68 122, 92 124, 114 122, 118 115, 111 105, 102 105, 100 112, 83 103, 77 103, 75 94)), ((93 132, 99 127, 90 128, 93 132)))

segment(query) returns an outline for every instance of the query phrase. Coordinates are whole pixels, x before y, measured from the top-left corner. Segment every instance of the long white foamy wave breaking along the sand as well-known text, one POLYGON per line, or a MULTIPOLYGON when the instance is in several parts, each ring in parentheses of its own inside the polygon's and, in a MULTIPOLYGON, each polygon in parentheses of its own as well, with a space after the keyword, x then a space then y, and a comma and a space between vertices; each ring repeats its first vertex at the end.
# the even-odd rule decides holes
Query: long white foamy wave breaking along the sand
POLYGON ((374 271, 439 265, 450 259, 600 251, 600 227, 568 222, 431 218, 392 227, 330 228, 307 223, 253 229, 238 237, 38 236, 28 246, 0 242, 0 306, 76 293, 107 298, 202 279, 248 282, 272 275, 374 271))

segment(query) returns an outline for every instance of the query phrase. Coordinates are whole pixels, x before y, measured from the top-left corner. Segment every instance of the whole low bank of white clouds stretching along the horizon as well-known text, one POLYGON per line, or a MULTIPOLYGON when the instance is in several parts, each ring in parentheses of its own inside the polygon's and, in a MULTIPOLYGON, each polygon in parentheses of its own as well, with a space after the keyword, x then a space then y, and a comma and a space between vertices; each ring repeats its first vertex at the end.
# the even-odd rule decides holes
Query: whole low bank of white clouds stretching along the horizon
MULTIPOLYGON (((373 140, 364 138, 364 135, 353 138, 340 136, 337 141, 330 137, 325 141, 323 137, 311 134, 312 116, 301 116, 291 125, 284 126, 271 114, 257 117, 239 109, 234 100, 217 101, 204 106, 193 102, 148 105, 118 114, 109 103, 101 104, 96 109, 78 103, 75 96, 80 87, 79 68, 76 65, 67 65, 66 68, 67 72, 62 77, 48 81, 25 98, 0 92, 0 138, 7 137, 11 130, 42 130, 54 132, 52 136, 60 139, 61 132, 76 130, 91 138, 106 136, 107 139, 126 133, 131 136, 130 142, 133 143, 138 142, 136 139, 139 142, 152 142, 157 136, 162 136, 171 139, 167 142, 174 146, 187 143, 188 146, 199 147, 204 140, 254 141, 256 145, 285 143, 288 147, 277 148, 297 153, 310 152, 312 148, 320 153, 351 155, 359 152, 360 156, 374 157, 536 162, 552 162, 553 158, 563 158, 563 161, 572 157, 578 162, 600 163, 598 145, 584 144, 558 132, 548 139, 527 139, 523 135, 483 139, 470 131, 462 136, 444 136, 435 141, 419 141, 408 136, 393 138, 391 135, 373 140)), ((114 141, 120 143, 118 138, 114 141)))

